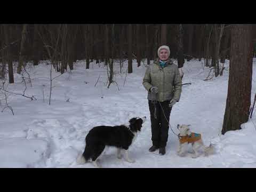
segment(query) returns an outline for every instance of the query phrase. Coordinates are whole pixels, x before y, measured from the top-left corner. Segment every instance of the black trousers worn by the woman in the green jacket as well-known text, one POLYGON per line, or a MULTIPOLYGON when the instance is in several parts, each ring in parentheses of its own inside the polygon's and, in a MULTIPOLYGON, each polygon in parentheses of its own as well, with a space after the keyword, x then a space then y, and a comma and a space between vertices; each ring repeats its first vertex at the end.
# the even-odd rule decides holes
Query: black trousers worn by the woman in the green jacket
POLYGON ((153 145, 157 147, 165 147, 168 140, 168 131, 169 131, 169 120, 172 108, 169 107, 170 101, 160 102, 162 105, 159 105, 158 101, 148 101, 149 111, 150 111, 150 120, 151 120, 151 133, 153 145), (164 110, 164 114, 163 114, 164 110), (156 117, 156 118, 155 118, 156 117), (166 118, 167 120, 166 120, 166 118), (167 122, 168 121, 168 122, 167 122))

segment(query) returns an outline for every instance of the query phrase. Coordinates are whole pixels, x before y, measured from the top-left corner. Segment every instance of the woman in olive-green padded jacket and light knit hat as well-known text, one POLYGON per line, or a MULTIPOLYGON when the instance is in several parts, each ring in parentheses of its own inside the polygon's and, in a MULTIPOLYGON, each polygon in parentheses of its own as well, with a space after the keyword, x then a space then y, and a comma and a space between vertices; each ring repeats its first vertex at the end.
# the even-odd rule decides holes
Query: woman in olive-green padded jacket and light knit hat
POLYGON ((159 154, 164 155, 170 114, 173 105, 180 99, 182 81, 177 65, 169 60, 169 46, 159 47, 157 53, 158 59, 147 67, 142 84, 148 91, 151 119, 153 146, 149 151, 154 152, 159 148, 159 154))

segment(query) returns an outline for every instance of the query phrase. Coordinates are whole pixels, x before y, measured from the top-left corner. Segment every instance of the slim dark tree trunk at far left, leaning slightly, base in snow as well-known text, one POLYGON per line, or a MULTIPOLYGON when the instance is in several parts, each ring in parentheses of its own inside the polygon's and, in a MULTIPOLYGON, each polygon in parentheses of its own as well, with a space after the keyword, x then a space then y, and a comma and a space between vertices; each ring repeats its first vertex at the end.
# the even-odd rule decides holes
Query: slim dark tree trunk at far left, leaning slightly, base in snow
POLYGON ((10 37, 9 37, 9 25, 4 24, 4 36, 5 36, 5 45, 6 47, 6 60, 8 62, 8 74, 9 74, 9 83, 14 83, 13 77, 13 65, 12 65, 12 58, 10 54, 10 37))

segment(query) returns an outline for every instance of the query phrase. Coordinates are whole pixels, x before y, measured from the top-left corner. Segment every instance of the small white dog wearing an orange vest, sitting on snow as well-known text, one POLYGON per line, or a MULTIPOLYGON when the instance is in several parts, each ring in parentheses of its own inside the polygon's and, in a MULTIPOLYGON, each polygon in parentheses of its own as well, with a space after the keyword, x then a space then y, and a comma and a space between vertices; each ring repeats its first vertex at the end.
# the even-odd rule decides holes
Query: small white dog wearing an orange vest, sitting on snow
POLYGON ((213 146, 210 145, 209 147, 204 146, 203 140, 201 139, 201 134, 198 133, 191 133, 189 130, 190 125, 177 125, 179 133, 179 149, 177 151, 179 156, 185 156, 188 152, 188 144, 191 143, 193 149, 193 156, 192 158, 197 158, 200 154, 199 149, 203 148, 204 155, 210 155, 213 153, 214 149, 213 146))

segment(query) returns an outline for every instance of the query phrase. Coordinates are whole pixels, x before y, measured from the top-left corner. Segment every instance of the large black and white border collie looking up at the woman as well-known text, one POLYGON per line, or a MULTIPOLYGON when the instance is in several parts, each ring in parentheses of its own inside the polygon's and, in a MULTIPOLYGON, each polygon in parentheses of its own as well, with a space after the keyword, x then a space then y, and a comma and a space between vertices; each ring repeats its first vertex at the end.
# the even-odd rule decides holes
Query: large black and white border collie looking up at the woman
POLYGON ((122 158, 122 151, 124 151, 125 160, 134 163, 135 161, 128 156, 128 149, 135 141, 145 121, 146 117, 134 117, 130 119, 129 125, 93 127, 86 135, 84 153, 77 157, 76 162, 84 164, 92 161, 94 166, 100 167, 97 158, 106 146, 111 146, 117 148, 118 158, 122 158))

